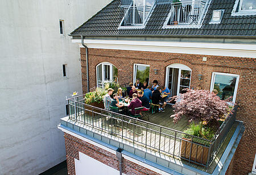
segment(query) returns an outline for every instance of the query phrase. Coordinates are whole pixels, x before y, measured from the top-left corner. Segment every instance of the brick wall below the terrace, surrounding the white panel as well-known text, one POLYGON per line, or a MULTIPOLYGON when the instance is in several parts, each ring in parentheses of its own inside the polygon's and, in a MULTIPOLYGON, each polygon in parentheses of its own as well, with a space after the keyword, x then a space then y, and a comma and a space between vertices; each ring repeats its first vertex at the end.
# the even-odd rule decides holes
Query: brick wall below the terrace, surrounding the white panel
MULTIPOLYGON (((64 133, 68 174, 76 174, 75 159, 79 160, 79 152, 92 157, 114 169, 119 170, 119 161, 117 157, 105 149, 98 148, 93 144, 87 143, 84 140, 78 139, 72 135, 64 133)), ((123 159, 122 172, 125 174, 154 174, 158 175, 152 170, 144 168, 141 165, 135 164, 129 160, 123 159)), ((160 175, 160 174, 159 174, 160 175)))

